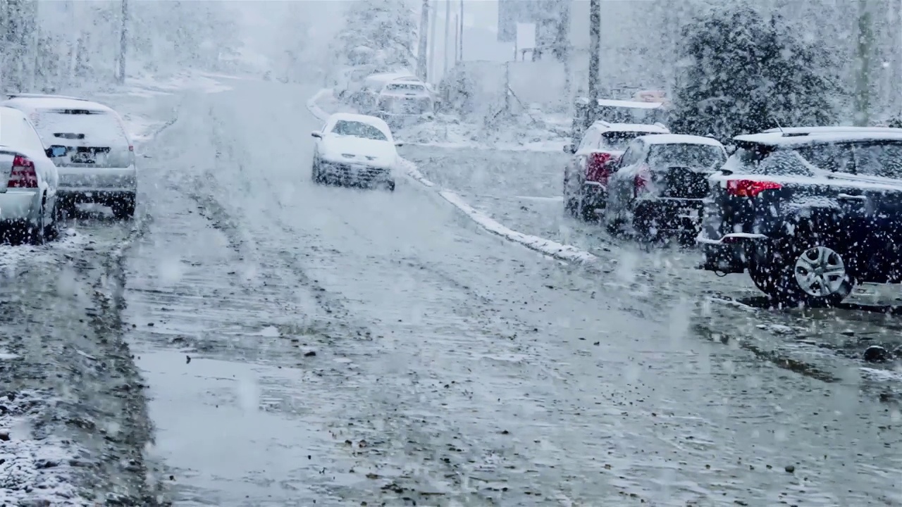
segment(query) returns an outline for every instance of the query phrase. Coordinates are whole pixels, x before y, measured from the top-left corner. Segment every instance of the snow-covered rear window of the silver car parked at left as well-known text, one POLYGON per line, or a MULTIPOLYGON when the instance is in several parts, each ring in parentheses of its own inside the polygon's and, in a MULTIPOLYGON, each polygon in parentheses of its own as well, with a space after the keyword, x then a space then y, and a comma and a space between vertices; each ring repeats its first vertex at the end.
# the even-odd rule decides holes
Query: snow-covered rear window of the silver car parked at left
POLYGON ((34 127, 44 143, 65 144, 78 140, 88 143, 128 144, 118 116, 92 109, 47 109, 33 116, 34 127))

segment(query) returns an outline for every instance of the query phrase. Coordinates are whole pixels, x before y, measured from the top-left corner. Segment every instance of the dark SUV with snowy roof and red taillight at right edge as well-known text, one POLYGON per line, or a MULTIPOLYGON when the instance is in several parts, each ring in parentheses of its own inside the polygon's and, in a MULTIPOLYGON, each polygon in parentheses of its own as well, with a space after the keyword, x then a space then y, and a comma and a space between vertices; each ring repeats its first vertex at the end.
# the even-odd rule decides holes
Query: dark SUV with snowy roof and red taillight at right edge
POLYGON ((748 270, 781 303, 831 306, 902 281, 902 129, 810 127, 734 138, 708 180, 703 269, 748 270))

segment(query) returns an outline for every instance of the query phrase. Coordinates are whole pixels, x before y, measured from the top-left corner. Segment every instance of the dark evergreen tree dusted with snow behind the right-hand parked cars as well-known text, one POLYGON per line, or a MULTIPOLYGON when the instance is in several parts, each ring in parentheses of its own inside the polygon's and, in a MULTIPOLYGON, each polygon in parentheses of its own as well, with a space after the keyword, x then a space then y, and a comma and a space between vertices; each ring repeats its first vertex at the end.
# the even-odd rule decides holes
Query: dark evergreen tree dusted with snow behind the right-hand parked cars
POLYGON ((832 124, 838 88, 825 71, 829 56, 796 33, 744 6, 686 26, 691 63, 675 90, 674 129, 727 142, 778 125, 832 124))

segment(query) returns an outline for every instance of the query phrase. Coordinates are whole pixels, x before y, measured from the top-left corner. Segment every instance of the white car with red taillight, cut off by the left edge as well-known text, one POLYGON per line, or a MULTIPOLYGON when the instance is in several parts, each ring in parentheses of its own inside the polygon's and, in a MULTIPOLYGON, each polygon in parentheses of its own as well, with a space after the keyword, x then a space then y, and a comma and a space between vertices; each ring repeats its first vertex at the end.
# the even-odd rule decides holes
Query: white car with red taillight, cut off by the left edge
POLYGON ((60 176, 22 111, 0 106, 0 228, 11 243, 42 244, 57 232, 60 176))

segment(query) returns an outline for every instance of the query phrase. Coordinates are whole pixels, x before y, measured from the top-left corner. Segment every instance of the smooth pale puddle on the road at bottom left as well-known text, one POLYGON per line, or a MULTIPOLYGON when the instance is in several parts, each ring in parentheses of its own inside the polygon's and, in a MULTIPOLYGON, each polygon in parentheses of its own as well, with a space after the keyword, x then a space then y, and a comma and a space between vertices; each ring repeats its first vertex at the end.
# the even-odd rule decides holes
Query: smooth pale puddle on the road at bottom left
POLYGON ((324 449, 331 453, 336 441, 326 421, 311 419, 303 371, 187 357, 161 350, 136 357, 151 385, 152 456, 167 465, 166 479, 174 477, 164 482, 175 505, 226 505, 248 496, 310 505, 324 500, 311 476, 331 484, 362 479, 324 462, 324 449))

